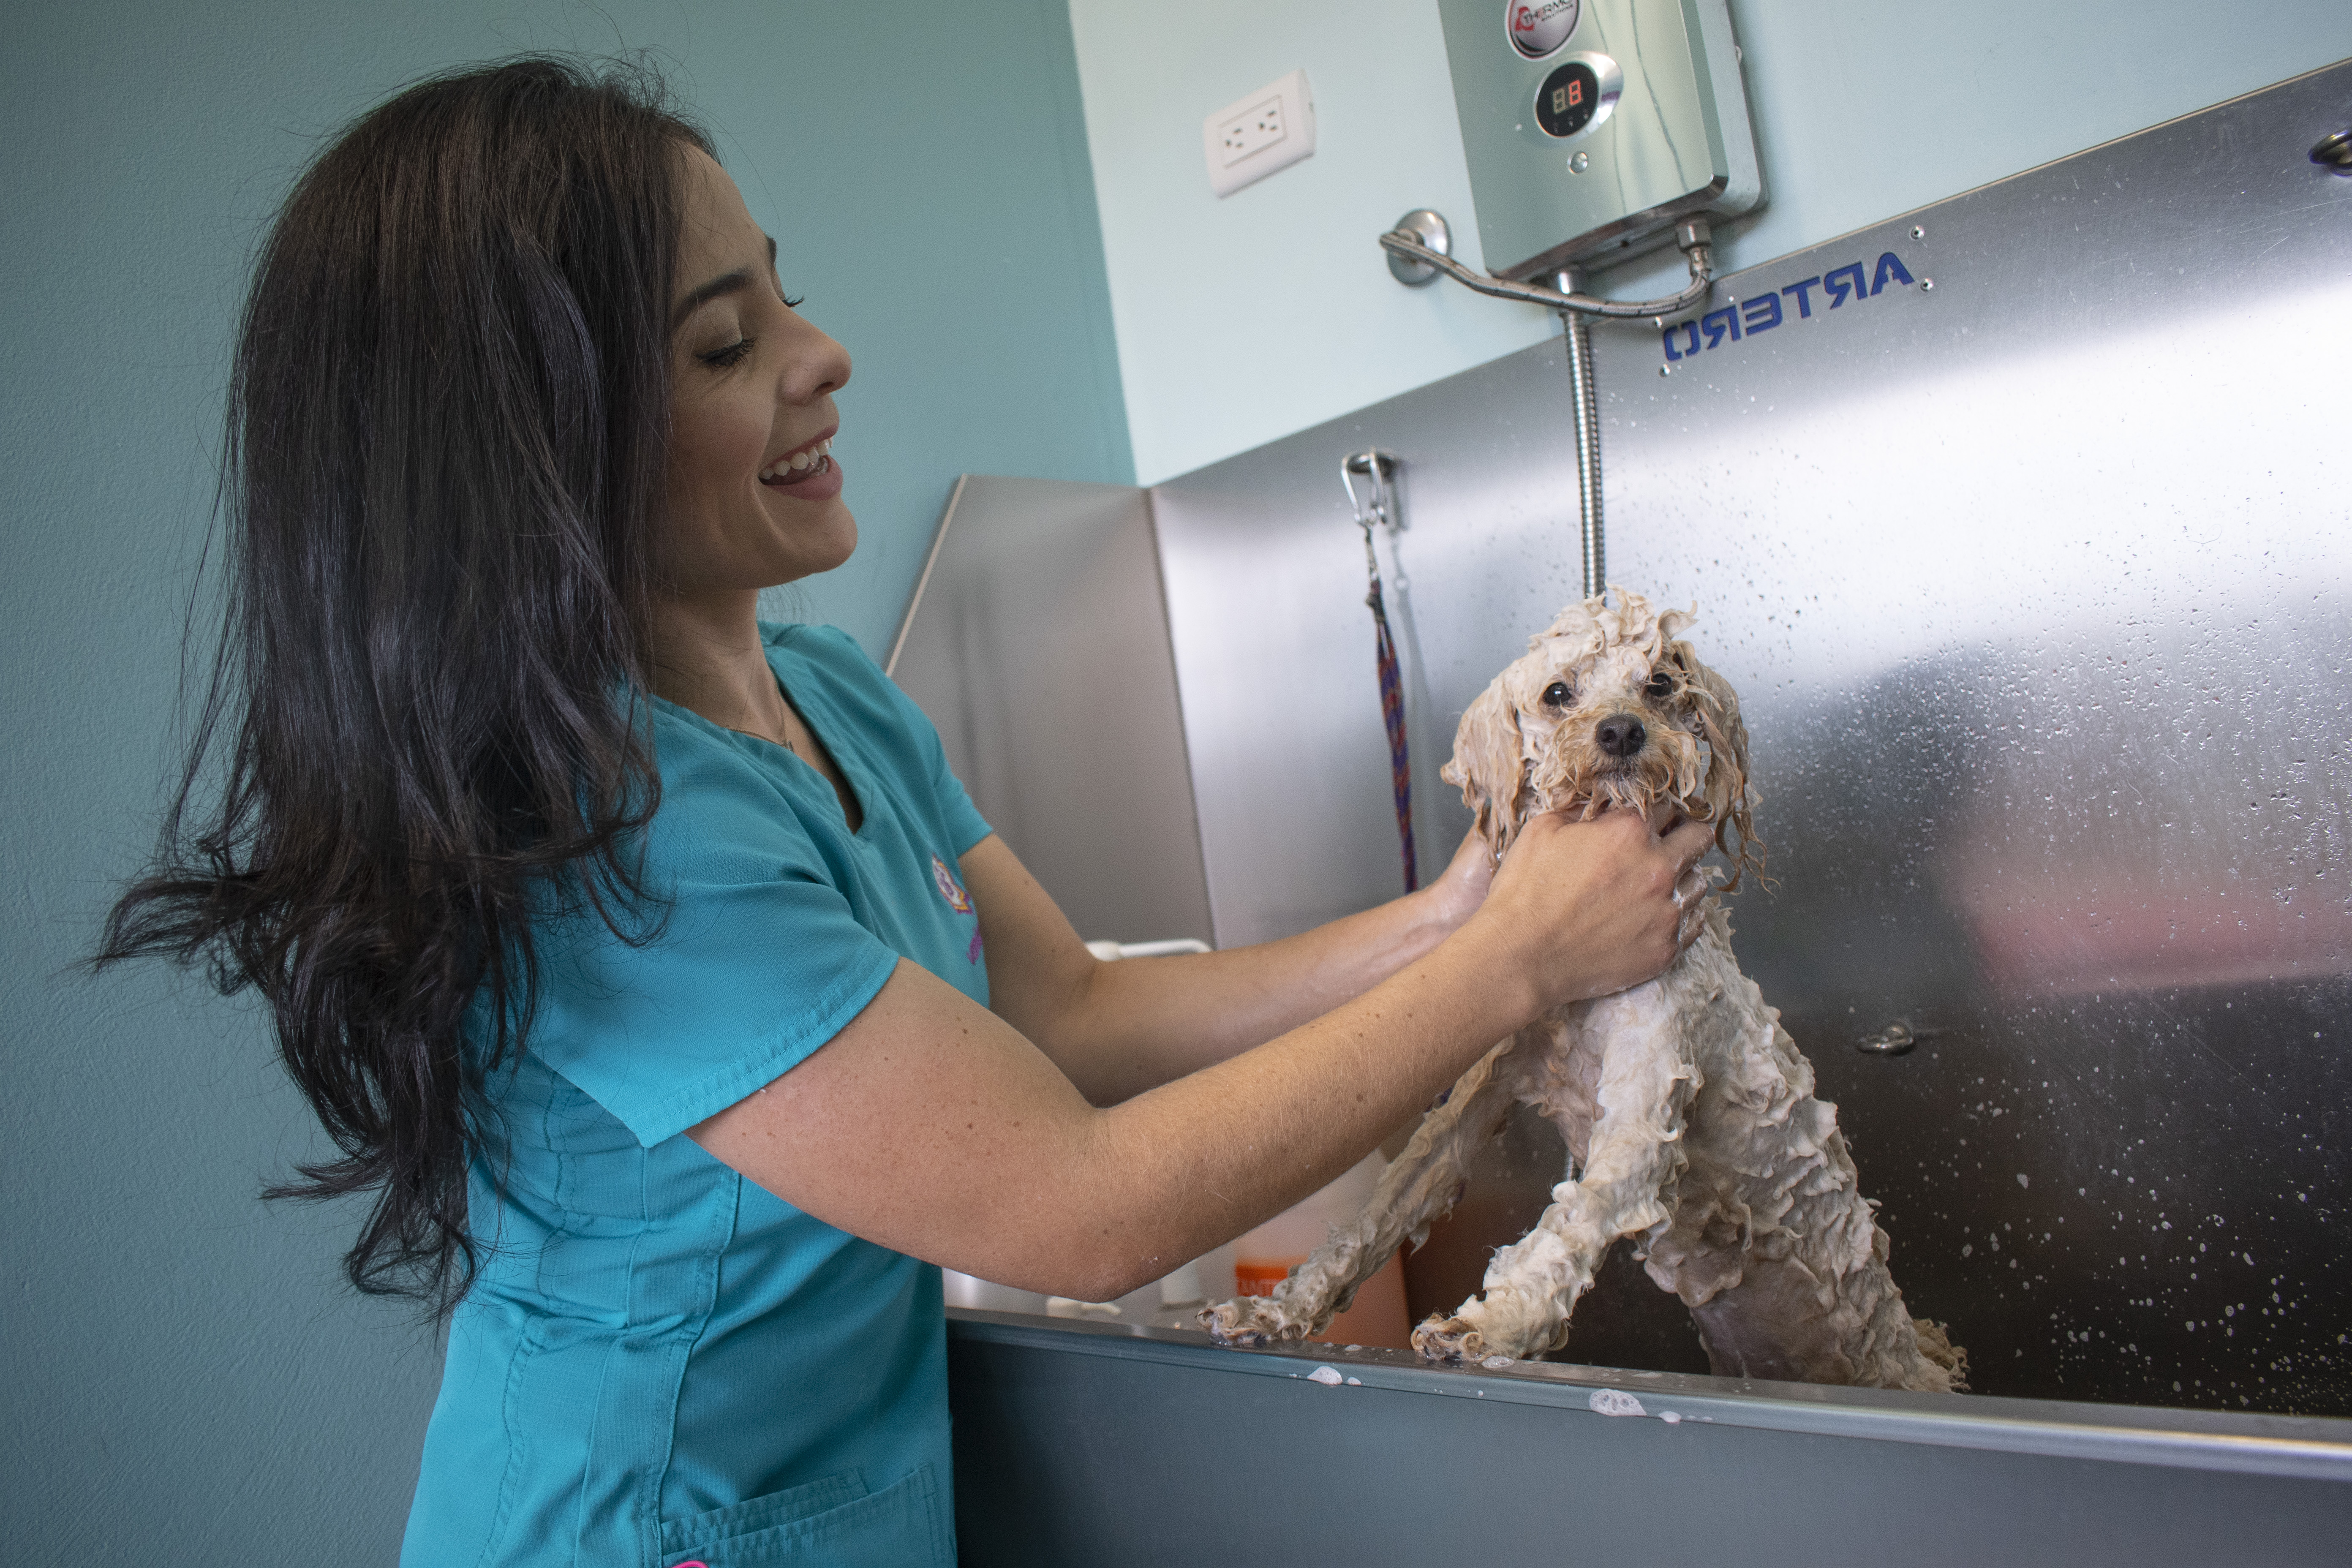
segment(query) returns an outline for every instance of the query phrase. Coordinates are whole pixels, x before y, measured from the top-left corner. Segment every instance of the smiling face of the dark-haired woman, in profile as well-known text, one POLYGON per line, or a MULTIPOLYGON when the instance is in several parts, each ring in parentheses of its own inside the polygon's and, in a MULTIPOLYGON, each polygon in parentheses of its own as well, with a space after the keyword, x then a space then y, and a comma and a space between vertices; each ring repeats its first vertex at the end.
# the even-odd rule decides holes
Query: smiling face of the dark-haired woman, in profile
POLYGON ((830 571, 858 543, 826 454, 849 355, 783 303, 776 242, 699 148, 684 155, 684 197, 670 301, 670 588, 696 597, 830 571))

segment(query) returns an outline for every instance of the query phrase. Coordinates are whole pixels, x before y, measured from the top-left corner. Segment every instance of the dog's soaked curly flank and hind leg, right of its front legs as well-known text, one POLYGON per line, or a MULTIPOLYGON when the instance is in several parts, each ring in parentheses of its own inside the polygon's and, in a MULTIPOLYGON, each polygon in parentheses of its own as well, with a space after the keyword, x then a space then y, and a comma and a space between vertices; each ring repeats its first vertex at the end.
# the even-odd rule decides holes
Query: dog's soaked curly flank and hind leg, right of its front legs
POLYGON ((1964 1389, 1966 1352, 1903 1305, 1811 1063, 1729 945, 1703 940, 1693 959, 1712 971, 1691 1011, 1705 1086, 1675 1218, 1649 1241, 1651 1279, 1691 1307, 1717 1375, 1964 1389))

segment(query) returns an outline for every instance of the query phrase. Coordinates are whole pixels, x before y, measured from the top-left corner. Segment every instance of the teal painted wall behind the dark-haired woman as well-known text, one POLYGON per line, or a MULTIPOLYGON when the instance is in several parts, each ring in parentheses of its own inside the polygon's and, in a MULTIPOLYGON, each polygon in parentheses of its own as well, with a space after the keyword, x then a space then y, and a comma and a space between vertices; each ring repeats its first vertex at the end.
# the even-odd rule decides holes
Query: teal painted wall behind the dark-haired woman
POLYGON ((1061 0, 12 5, 0 63, 0 1563, 388 1563, 430 1335, 336 1279, 350 1215, 252 1006, 85 980, 172 755, 233 313, 318 136, 522 47, 659 47, 807 310, 856 355, 880 649, 953 475, 1127 480, 1061 0))

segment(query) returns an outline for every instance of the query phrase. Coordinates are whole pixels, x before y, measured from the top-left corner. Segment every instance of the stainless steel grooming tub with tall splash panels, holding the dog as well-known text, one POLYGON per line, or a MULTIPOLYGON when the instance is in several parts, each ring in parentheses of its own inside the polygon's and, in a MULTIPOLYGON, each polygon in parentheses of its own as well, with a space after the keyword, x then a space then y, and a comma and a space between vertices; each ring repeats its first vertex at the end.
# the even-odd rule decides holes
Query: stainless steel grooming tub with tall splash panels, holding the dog
MULTIPOLYGON (((971 1561, 2352 1561, 2352 179, 2310 155, 2347 125, 2352 63, 1595 331, 1611 576, 1698 607, 1755 733, 1778 886, 1738 896, 1740 959, 1978 1392, 1703 1378, 1625 1255, 1562 1352, 1595 1366, 964 1314, 971 1561), (1301 1378, 1319 1361, 1338 1387, 1301 1378)), ((1150 611, 1054 656, 1033 724, 1089 785, 1023 813, 1000 755, 1004 804, 981 790, 1023 853, 1094 846, 1040 872, 1115 926, 1087 936, 1237 945, 1395 896, 1331 482, 1374 444, 1402 458, 1383 550, 1437 865, 1456 715, 1576 592, 1557 346, 1073 491, 1094 522, 1023 545, 1054 571, 985 548, 1054 487, 967 484, 943 538, 995 585, 943 550, 962 630, 901 670, 950 750, 1002 729, 957 710, 957 682, 997 689, 969 661, 1035 661, 990 649, 1110 592, 1070 562, 1129 559, 1120 602, 1150 611), (1174 733, 1098 745, 1138 682, 1174 733), (1160 870, 1105 860, 1122 835, 1160 870)), ((1414 1309, 1475 1288, 1559 1171, 1512 1124, 1409 1262, 1414 1309)))

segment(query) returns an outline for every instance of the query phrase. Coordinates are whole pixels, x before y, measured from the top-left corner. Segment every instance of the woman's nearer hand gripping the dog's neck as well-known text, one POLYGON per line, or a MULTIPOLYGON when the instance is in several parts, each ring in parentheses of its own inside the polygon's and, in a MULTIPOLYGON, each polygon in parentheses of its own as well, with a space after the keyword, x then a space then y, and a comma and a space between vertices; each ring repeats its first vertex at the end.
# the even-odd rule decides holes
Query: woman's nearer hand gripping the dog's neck
POLYGON ((1684 875, 1712 844, 1705 823, 1670 811, 1653 820, 1604 811, 1588 823, 1534 816, 1456 940, 1498 978, 1531 983, 1538 1013, 1639 985, 1696 938, 1698 922, 1682 919, 1675 889, 1691 886, 1684 875))

